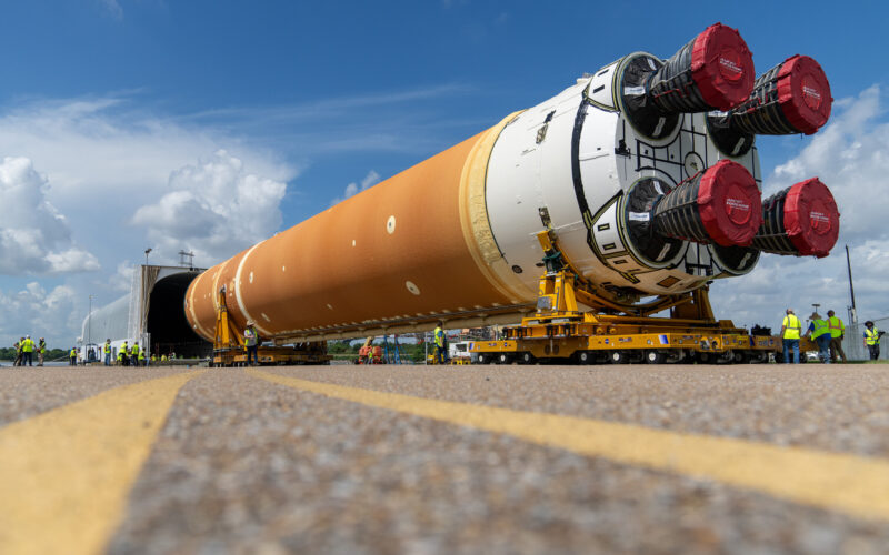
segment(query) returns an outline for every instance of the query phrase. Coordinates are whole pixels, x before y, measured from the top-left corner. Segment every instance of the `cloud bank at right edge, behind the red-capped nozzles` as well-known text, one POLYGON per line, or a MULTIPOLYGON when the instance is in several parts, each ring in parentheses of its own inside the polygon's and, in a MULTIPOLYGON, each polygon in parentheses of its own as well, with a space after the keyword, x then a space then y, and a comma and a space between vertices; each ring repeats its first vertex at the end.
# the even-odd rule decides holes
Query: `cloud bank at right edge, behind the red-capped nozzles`
POLYGON ((730 315, 741 324, 770 324, 777 331, 786 307, 808 316, 818 303, 822 313, 833 309, 846 319, 851 304, 848 244, 859 320, 889 316, 889 192, 885 186, 889 122, 882 119, 882 102, 878 87, 837 102, 830 123, 767 180, 765 195, 816 175, 830 188, 841 213, 840 236, 830 255, 816 260, 763 254, 750 275, 713 285, 718 315, 730 315))

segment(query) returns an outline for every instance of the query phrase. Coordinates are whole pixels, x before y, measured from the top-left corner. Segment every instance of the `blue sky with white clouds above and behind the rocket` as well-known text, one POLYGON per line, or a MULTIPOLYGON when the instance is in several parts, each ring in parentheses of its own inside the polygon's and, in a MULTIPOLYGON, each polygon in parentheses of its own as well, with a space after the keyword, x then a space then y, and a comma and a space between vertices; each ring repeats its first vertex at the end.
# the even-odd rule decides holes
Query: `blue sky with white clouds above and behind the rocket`
MULTIPOLYGON (((583 72, 636 50, 666 58, 716 21, 739 29, 758 72, 795 53, 823 67, 837 99, 835 132, 760 138, 766 194, 797 174, 842 181, 828 185, 839 185, 840 241, 862 266, 859 304, 872 307, 862 315, 889 315, 877 273, 889 271, 878 219, 889 202, 872 195, 855 204, 857 188, 886 189, 887 8, 669 6, 3 3, 0 161, 17 163, 4 162, 2 200, 24 210, 4 205, 17 215, 0 223, 18 233, 0 246, 0 343, 21 333, 70 343, 89 295, 104 304, 128 291, 128 264, 143 260, 147 246, 152 262, 172 262, 190 246, 197 264, 213 264, 552 97, 583 72), (855 171, 840 173, 849 157, 855 171), (176 214, 193 218, 183 223, 176 214), (220 214, 254 221, 229 229, 214 220, 220 214)), ((719 284, 713 304, 748 325, 778 319, 776 303, 822 300, 845 313, 839 259, 762 263, 719 284), (775 291, 776 280, 787 289, 775 291)))

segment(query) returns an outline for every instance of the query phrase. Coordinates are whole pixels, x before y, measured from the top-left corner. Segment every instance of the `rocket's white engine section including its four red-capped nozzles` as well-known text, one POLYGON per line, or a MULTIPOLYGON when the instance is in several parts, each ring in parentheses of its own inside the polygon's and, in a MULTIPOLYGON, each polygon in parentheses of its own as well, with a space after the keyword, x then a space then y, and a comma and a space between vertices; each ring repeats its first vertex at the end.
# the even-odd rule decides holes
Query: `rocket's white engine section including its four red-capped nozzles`
MULTIPOLYGON (((785 111, 805 111, 796 121, 808 117, 813 123, 805 130, 813 132, 827 121, 831 99, 820 67, 806 60, 796 63, 805 74, 786 72, 779 83, 788 91, 785 111)), ((753 88, 752 72, 743 40, 717 23, 670 60, 629 54, 515 117, 491 152, 486 201, 497 245, 526 294, 537 289, 542 263, 535 234, 545 226, 585 278, 618 295, 679 293, 741 275, 761 250, 826 255, 839 213, 820 182, 795 185, 806 198, 793 210, 795 229, 775 228, 773 215, 783 223, 785 214, 773 202, 772 223, 763 228, 749 130, 765 131, 749 121, 763 119, 758 111, 766 103, 750 102, 763 88, 753 88), (745 102, 752 105, 731 112, 745 102), (733 121, 741 115, 746 125, 733 121), (783 248, 770 249, 776 232, 796 234, 799 244, 785 236, 783 248)))

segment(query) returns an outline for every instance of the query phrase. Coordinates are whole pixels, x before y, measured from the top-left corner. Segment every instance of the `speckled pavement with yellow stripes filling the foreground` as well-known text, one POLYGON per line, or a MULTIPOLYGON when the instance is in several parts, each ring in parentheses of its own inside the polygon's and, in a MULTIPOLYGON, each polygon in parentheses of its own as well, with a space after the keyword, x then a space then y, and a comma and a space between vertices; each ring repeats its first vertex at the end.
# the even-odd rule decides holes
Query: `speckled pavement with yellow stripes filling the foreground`
POLYGON ((0 553, 889 551, 889 365, 0 369, 0 553))

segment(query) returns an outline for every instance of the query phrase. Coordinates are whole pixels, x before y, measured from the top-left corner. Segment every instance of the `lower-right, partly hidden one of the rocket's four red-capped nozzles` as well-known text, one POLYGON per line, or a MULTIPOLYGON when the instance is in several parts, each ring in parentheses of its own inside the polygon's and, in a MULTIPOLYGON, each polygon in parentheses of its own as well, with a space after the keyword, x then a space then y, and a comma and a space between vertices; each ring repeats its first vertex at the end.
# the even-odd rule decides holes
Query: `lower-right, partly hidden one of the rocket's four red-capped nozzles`
POLYGON ((753 246, 773 254, 827 256, 840 232, 840 213, 818 178, 791 185, 762 203, 753 246))

